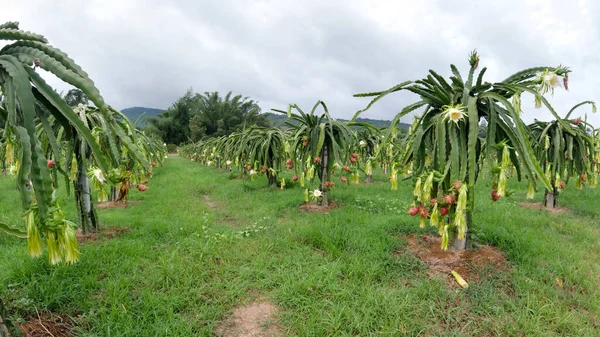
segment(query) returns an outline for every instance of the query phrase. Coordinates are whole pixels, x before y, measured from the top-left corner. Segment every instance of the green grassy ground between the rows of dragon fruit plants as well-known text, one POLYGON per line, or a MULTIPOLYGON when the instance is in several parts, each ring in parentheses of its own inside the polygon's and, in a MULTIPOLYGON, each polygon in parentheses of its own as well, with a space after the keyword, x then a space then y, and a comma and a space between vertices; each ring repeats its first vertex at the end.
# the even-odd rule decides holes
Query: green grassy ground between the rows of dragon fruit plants
MULTIPOLYGON (((495 204, 480 184, 474 235, 512 268, 481 270, 459 290, 404 250, 406 234, 432 232, 406 215, 409 182, 338 183, 341 207, 307 214, 299 186, 230 178, 170 158, 133 193, 141 203, 100 211, 106 227, 131 231, 84 243, 74 266, 31 259, 0 235, 12 318, 37 308, 79 314, 82 336, 210 336, 232 308, 265 297, 290 336, 600 336, 600 189, 569 186, 559 202, 572 211, 549 215, 518 205, 522 184, 495 204)), ((20 221, 13 186, 0 178, 0 221, 20 221)))

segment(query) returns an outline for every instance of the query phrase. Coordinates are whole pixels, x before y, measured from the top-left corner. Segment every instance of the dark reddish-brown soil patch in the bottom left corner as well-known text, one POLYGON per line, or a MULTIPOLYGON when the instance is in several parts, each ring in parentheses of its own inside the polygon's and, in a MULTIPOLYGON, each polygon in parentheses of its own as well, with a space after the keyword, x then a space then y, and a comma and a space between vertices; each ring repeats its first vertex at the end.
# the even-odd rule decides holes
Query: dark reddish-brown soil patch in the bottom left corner
POLYGON ((75 322, 67 315, 44 312, 15 326, 27 337, 67 337, 72 336, 71 330, 75 322))

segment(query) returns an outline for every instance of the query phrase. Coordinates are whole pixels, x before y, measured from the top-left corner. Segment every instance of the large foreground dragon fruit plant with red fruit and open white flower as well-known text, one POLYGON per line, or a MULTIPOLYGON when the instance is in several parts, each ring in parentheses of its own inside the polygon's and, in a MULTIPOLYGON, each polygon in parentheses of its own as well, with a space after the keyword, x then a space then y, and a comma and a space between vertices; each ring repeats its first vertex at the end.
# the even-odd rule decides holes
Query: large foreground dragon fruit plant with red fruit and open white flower
POLYGON ((536 106, 545 105, 556 115, 543 95, 561 83, 566 86, 569 69, 530 68, 504 81, 489 83, 483 80, 486 68, 476 73, 479 62, 479 55, 473 51, 466 78, 451 65, 452 76, 448 80, 430 70, 423 79, 355 95, 374 99, 352 120, 390 93, 409 91, 418 96, 417 102, 394 118, 391 129, 401 117, 423 109, 411 128, 409 150, 400 164, 411 167, 414 180, 414 205, 409 214, 419 216, 421 226, 429 220, 438 228, 443 249, 467 247, 482 160, 489 163, 495 198, 506 193, 506 175, 512 169, 518 179, 525 177, 534 189, 536 178, 544 187, 552 188, 531 146, 530 134, 521 118, 520 99, 522 93, 533 94, 536 106), (479 138, 482 120, 487 122, 485 140, 479 138))

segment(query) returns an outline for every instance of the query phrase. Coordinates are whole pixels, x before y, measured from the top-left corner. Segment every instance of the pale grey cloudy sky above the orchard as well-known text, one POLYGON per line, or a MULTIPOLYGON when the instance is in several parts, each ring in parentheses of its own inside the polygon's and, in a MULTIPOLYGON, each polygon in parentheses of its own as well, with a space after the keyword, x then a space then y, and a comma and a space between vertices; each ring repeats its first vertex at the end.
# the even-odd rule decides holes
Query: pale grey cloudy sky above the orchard
MULTIPOLYGON (((447 76, 450 63, 466 72, 475 48, 489 82, 571 67, 570 91, 551 99, 562 114, 600 101, 599 20, 594 0, 2 0, 0 10, 67 52, 118 109, 167 108, 193 88, 240 93, 263 111, 321 99, 342 118, 368 102, 354 93, 428 69, 447 76)), ((416 100, 388 96, 363 117, 391 119, 416 100)), ((550 118, 523 101, 528 121, 550 118)), ((580 111, 600 126, 600 114, 580 111)))

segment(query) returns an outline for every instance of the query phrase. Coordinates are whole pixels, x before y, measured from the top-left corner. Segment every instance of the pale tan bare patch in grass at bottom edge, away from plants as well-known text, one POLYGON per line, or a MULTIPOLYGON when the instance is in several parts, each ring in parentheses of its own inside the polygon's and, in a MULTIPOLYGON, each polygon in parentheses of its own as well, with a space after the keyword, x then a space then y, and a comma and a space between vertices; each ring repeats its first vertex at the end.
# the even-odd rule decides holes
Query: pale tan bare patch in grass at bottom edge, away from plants
POLYGON ((278 337, 281 329, 275 316, 279 308, 266 300, 233 309, 230 316, 220 322, 216 335, 221 337, 278 337))

